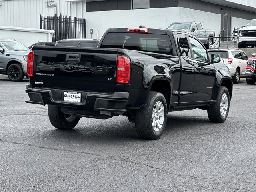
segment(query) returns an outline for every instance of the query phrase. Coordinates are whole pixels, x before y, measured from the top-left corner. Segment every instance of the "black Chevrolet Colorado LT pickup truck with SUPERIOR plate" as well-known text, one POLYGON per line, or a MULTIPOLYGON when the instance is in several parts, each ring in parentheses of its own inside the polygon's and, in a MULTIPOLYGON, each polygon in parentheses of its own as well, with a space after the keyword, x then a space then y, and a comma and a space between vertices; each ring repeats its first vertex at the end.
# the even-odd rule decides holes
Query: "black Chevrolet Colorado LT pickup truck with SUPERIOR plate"
POLYGON ((58 129, 124 115, 140 138, 158 139, 168 112, 199 108, 211 122, 226 120, 233 84, 219 62, 185 32, 111 28, 98 48, 34 46, 26 102, 47 104, 58 129))

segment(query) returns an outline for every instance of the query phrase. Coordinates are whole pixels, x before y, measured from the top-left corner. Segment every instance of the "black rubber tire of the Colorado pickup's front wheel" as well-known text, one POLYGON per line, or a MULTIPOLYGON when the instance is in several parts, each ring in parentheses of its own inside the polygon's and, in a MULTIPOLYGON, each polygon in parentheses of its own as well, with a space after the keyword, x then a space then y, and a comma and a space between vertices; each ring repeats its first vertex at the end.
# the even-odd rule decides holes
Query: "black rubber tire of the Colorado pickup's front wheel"
POLYGON ((220 86, 218 96, 217 96, 217 102, 210 105, 207 110, 209 120, 214 123, 225 122, 228 117, 229 107, 230 107, 230 96, 229 96, 228 89, 224 86, 220 86), (223 116, 221 114, 221 102, 222 102, 222 96, 224 94, 226 94, 228 100, 227 100, 226 114, 223 116))

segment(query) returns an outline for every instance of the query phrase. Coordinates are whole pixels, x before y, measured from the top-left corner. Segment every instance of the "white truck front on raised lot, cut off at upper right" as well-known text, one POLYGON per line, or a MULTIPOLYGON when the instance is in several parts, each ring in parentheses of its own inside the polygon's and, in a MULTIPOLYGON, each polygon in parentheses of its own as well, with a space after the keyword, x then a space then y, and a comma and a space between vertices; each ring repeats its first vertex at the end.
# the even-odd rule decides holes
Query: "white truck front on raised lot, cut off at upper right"
POLYGON ((242 49, 247 46, 256 46, 256 19, 238 30, 238 48, 242 49))

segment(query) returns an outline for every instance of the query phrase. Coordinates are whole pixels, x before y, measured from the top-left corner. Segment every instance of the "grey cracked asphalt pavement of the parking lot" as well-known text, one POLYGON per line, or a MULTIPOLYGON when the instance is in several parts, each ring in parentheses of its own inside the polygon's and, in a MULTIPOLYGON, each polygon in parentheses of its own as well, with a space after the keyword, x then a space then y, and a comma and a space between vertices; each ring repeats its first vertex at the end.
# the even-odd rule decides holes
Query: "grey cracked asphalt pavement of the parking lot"
POLYGON ((234 85, 223 124, 172 112, 149 141, 124 116, 56 130, 26 84, 0 75, 0 192, 256 191, 256 85, 234 85))

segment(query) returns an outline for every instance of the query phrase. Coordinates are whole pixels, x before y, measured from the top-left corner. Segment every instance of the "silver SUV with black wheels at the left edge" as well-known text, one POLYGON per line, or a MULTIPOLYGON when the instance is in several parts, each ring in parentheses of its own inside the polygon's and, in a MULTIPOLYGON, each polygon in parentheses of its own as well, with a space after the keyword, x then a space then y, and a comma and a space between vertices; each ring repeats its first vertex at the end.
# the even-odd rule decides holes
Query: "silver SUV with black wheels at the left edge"
POLYGON ((29 52, 20 42, 0 39, 0 74, 7 74, 11 81, 21 81, 27 73, 29 52))

